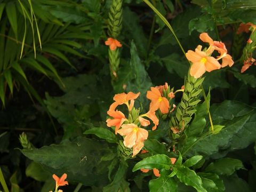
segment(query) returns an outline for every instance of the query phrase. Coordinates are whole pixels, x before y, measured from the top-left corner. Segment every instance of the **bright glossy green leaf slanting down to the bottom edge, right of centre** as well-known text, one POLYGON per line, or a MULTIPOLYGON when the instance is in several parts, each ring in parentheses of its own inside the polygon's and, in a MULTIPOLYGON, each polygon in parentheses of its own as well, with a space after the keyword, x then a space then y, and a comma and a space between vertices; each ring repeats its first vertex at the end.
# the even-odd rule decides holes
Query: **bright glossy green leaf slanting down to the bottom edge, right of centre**
POLYGON ((203 187, 201 178, 195 173, 195 171, 182 165, 175 167, 177 168, 176 175, 180 182, 187 186, 194 187, 198 192, 207 192, 203 187))

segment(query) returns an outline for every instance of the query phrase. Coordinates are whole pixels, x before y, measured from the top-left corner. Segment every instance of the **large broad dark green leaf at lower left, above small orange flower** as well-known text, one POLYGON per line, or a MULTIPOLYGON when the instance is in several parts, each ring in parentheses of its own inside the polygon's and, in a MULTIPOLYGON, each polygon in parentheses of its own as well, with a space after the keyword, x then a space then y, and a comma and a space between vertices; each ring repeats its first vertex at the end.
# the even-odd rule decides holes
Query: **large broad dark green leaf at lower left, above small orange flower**
POLYGON ((21 153, 42 164, 44 169, 52 174, 67 173, 69 181, 92 186, 101 185, 107 180, 108 162, 100 161, 106 149, 108 149, 106 143, 77 138, 73 142, 66 141, 60 145, 21 150, 21 153))

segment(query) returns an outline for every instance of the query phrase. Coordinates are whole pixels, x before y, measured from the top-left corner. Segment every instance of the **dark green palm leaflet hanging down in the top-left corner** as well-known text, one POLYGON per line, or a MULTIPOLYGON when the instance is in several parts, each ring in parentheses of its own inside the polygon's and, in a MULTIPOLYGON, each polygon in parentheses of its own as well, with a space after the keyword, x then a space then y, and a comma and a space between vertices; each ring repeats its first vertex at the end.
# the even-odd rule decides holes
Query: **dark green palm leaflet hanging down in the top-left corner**
POLYGON ((9 2, 6 4, 6 14, 11 23, 15 37, 18 39, 17 12, 14 2, 9 2))

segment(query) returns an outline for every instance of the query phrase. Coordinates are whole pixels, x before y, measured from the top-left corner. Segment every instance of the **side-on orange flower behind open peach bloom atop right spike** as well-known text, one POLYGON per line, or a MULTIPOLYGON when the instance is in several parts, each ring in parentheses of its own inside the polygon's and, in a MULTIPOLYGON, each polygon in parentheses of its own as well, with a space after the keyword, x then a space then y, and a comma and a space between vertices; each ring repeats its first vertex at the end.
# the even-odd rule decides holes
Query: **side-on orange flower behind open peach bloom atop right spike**
MULTIPOLYGON (((218 60, 222 59, 221 67, 226 67, 226 66, 231 67, 231 66, 233 66, 234 61, 232 60, 232 57, 229 54, 227 54, 228 51, 227 51, 226 46, 225 46, 224 43, 218 42, 218 41, 213 41, 212 38, 207 33, 200 34, 199 38, 203 42, 210 44, 210 49, 209 50, 211 50, 211 47, 213 47, 214 50, 216 50, 220 53, 220 55, 218 56, 218 60)), ((207 53, 208 52, 206 51, 206 54, 207 53)))

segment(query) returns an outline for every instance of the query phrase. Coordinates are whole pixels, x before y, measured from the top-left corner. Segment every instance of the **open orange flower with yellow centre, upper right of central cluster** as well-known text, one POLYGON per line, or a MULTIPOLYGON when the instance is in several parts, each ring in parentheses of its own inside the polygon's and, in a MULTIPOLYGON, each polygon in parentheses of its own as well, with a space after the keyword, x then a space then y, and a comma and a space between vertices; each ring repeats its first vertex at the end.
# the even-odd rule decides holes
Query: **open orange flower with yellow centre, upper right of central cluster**
POLYGON ((149 110, 156 111, 160 109, 162 114, 169 112, 169 101, 162 97, 160 91, 156 87, 151 87, 151 91, 147 91, 147 98, 151 100, 149 110))

